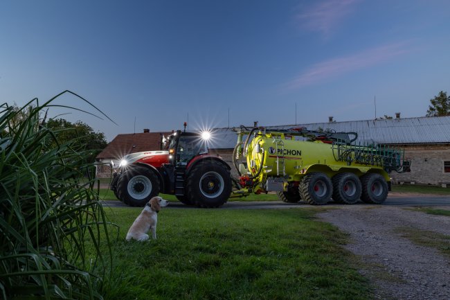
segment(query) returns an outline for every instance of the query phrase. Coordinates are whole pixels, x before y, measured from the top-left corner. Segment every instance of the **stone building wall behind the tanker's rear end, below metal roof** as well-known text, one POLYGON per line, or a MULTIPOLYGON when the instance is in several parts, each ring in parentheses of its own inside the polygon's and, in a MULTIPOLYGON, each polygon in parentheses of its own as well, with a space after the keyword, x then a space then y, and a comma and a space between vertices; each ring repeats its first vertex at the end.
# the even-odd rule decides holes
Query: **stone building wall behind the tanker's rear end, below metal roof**
POLYGON ((394 183, 431 184, 450 183, 450 173, 444 173, 444 161, 450 161, 450 144, 400 145, 406 159, 411 159, 411 172, 391 173, 394 183))

